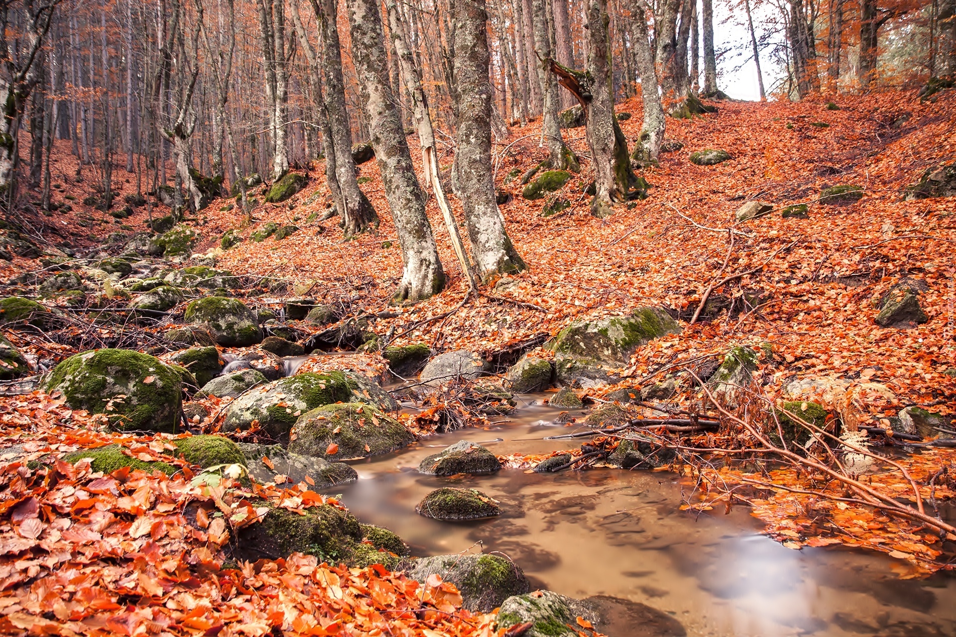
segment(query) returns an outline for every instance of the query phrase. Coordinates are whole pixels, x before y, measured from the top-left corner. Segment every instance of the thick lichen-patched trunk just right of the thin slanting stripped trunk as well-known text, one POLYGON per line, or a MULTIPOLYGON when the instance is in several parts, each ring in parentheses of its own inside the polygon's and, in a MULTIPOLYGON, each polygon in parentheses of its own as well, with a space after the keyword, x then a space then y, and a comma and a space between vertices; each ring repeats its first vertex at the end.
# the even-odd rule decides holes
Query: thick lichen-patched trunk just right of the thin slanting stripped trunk
MULTIPOLYGON (((459 197, 465 209, 471 253, 482 279, 525 269, 505 232, 495 202, 491 174, 491 84, 489 82, 488 13, 485 0, 456 0, 453 60, 457 97, 459 197)), ((625 151, 626 155, 626 151, 625 151)))

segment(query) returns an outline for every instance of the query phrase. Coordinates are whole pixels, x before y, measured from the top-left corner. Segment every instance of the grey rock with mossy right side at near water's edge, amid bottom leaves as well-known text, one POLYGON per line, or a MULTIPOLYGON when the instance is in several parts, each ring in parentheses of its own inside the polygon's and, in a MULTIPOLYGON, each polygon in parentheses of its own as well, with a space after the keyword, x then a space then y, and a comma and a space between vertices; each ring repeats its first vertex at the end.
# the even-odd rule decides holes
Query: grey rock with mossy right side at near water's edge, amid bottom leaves
POLYGON ((497 555, 436 555, 415 560, 405 569, 407 577, 423 584, 433 574, 455 584, 462 605, 472 612, 491 612, 512 595, 531 590, 521 568, 497 555))

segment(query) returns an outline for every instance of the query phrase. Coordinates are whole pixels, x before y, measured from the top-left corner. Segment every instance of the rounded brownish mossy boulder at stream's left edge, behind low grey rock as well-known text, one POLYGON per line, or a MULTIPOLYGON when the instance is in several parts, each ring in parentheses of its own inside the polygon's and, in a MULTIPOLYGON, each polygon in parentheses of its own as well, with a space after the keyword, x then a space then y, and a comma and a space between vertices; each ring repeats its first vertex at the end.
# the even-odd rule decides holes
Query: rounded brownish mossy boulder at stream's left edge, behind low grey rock
POLYGON ((323 405, 300 415, 290 436, 290 452, 326 459, 388 454, 415 441, 401 422, 357 402, 323 405))

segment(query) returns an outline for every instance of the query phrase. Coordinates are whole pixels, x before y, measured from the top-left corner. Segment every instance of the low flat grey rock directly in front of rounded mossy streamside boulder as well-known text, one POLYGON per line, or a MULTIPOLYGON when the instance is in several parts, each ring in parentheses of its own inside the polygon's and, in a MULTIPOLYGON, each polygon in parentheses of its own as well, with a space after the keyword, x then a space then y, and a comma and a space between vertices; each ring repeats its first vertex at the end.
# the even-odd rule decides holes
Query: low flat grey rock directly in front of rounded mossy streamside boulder
POLYGON ((304 481, 308 476, 315 482, 315 487, 327 488, 359 479, 356 470, 344 462, 291 454, 282 445, 240 442, 239 449, 246 458, 250 477, 260 484, 275 482, 276 476, 285 476, 282 483, 292 485, 304 481), (263 462, 264 457, 269 458, 272 466, 263 462))

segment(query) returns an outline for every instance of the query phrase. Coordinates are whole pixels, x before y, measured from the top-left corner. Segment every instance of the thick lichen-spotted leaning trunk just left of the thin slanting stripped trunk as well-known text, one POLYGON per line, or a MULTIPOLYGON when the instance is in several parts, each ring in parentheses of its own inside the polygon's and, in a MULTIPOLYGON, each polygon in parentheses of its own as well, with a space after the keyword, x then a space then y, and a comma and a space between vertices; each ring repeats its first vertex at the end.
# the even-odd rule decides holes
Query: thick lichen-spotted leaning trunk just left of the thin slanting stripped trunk
POLYGON ((395 107, 379 3, 348 0, 348 8, 352 59, 359 79, 362 109, 379 162, 385 197, 402 244, 404 269, 393 300, 420 301, 445 287, 445 272, 425 216, 424 195, 415 177, 402 121, 395 107))

